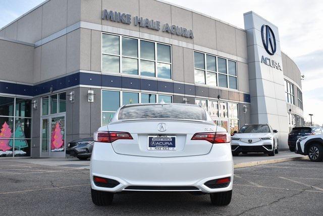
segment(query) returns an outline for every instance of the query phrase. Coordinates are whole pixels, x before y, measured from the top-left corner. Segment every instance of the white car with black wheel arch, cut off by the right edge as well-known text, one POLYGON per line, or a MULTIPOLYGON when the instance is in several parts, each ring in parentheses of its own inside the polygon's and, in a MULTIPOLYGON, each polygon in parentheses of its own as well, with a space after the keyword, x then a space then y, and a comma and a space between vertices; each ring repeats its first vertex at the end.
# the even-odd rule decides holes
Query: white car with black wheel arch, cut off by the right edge
POLYGON ((295 153, 308 155, 314 162, 323 159, 323 134, 304 136, 296 141, 295 153))

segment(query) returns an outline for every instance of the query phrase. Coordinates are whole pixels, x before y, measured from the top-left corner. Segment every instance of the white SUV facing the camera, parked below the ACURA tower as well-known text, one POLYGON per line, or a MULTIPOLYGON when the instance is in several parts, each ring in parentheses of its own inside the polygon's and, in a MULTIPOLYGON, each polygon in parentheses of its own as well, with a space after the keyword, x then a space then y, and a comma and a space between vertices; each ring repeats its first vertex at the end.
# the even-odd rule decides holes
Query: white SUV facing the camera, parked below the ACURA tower
POLYGON ((275 156, 279 152, 277 132, 268 124, 244 125, 231 137, 232 154, 262 152, 275 156))

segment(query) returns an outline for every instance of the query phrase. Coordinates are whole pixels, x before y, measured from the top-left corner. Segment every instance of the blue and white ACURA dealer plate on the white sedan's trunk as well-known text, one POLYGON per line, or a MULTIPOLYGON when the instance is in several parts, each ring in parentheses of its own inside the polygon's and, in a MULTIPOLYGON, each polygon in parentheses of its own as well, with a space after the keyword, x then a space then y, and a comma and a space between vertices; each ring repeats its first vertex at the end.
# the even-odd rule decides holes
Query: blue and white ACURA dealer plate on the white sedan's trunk
POLYGON ((148 136, 148 150, 176 150, 176 137, 148 136))

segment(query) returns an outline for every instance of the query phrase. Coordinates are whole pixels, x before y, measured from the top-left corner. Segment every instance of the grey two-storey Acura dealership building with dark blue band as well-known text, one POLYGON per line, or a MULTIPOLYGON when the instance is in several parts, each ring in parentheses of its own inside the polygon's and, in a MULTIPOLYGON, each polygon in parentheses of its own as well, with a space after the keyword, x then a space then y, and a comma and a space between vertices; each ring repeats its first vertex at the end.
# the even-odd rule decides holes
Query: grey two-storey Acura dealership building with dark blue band
POLYGON ((254 12, 242 29, 164 1, 47 0, 0 50, 2 157, 65 157, 128 103, 196 103, 230 133, 270 124, 281 149, 304 122, 301 72, 254 12))

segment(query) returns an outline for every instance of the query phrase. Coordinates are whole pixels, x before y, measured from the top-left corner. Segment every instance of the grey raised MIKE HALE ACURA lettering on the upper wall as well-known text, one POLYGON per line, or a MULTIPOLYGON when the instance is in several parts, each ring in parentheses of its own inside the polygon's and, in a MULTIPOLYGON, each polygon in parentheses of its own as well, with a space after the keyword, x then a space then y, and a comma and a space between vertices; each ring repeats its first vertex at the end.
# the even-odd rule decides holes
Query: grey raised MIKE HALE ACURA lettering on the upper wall
MULTIPOLYGON (((102 12, 102 20, 110 20, 113 22, 118 22, 118 23, 124 23, 130 25, 132 23, 132 18, 130 14, 125 14, 125 13, 120 13, 116 11, 107 11, 103 10, 102 12)), ((159 21, 154 21, 154 20, 149 20, 147 18, 142 18, 142 17, 134 17, 133 22, 135 26, 140 26, 142 28, 148 28, 156 31, 163 31, 167 32, 170 34, 176 34, 180 35, 183 37, 187 38, 194 38, 193 31, 188 30, 184 27, 179 27, 175 25, 169 25, 168 23, 165 23, 163 25, 163 28, 160 28, 160 22, 159 21)))

